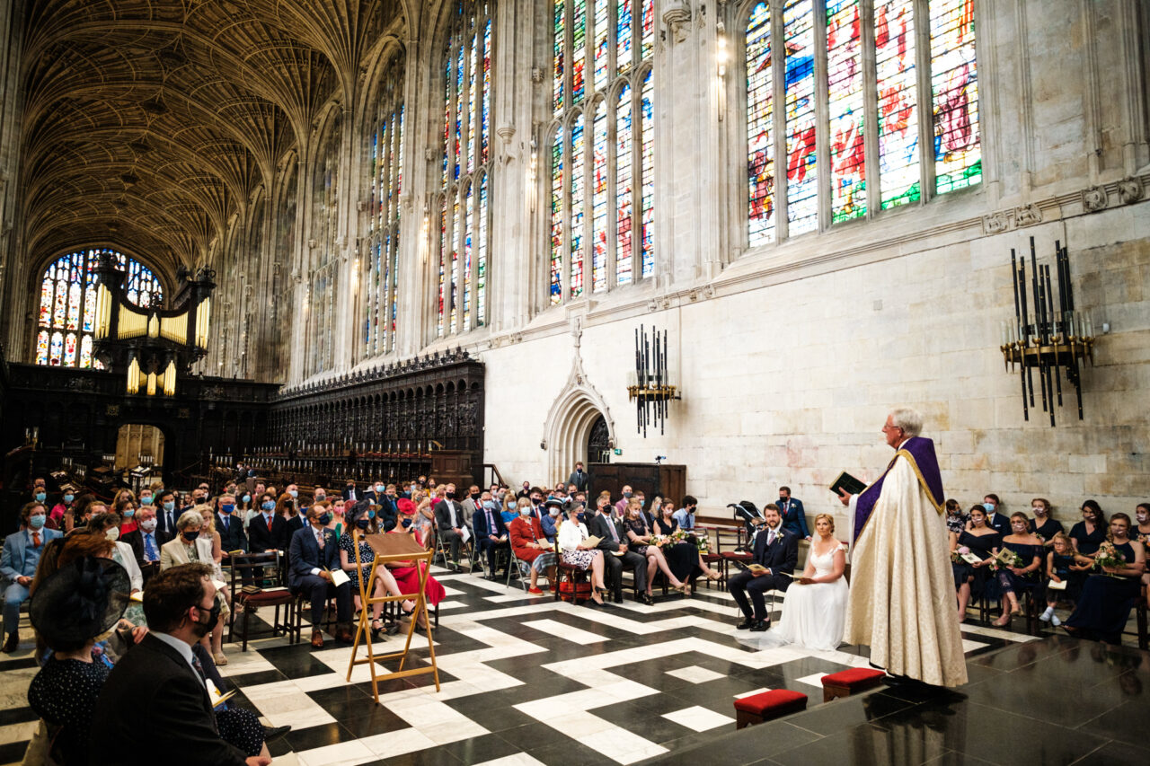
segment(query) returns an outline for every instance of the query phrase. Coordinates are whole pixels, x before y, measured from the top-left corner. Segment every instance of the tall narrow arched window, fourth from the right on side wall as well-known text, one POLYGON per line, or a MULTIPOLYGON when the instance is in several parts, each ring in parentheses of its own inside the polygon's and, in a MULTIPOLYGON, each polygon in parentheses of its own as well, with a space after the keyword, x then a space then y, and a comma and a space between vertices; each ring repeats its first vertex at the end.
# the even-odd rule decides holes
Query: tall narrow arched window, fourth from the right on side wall
POLYGON ((363 269, 363 355, 396 348, 399 285, 399 196, 404 176, 404 68, 392 63, 367 136, 370 168, 368 263, 363 269))

